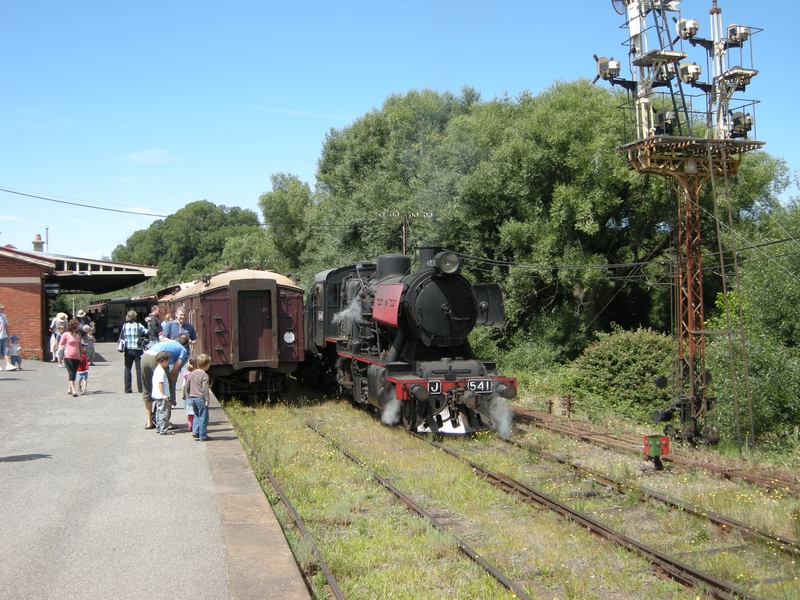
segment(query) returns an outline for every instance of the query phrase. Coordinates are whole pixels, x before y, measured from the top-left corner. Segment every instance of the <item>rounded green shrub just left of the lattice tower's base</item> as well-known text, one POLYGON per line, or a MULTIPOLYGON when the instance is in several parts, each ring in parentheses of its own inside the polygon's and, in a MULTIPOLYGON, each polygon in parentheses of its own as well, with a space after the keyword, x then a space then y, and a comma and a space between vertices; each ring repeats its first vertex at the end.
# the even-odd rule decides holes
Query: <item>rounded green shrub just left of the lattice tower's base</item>
POLYGON ((653 410, 665 408, 668 389, 655 385, 659 375, 668 375, 675 344, 650 329, 600 333, 599 339, 574 361, 566 378, 574 407, 579 412, 612 412, 639 422, 652 420, 653 410))

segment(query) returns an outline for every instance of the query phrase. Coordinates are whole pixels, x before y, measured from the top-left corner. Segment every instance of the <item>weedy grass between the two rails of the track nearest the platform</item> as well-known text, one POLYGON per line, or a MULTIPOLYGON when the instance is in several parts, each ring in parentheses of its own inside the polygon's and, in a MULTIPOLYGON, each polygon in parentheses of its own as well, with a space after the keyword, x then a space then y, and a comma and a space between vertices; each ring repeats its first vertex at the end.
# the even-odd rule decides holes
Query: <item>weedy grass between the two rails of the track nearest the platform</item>
MULTIPOLYGON (((307 409, 279 403, 253 411, 229 403, 226 410, 266 457, 348 598, 514 597, 463 557, 451 535, 411 514, 368 470, 306 427, 307 409)), ((308 545, 269 482, 263 486, 316 597, 326 597, 308 545)))

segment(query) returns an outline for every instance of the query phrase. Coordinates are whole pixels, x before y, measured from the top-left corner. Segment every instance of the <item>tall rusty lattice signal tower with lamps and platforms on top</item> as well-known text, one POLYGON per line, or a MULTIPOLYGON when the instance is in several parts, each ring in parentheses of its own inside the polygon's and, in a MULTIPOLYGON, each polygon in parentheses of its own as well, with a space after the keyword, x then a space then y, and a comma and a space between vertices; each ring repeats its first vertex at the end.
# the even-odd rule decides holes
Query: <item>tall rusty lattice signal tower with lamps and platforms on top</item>
MULTIPOLYGON (((758 74, 752 68, 752 27, 722 27, 722 10, 713 0, 709 12, 711 38, 697 36, 694 19, 679 18, 679 0, 612 0, 626 17, 631 78, 619 77, 620 63, 598 58, 597 77, 628 91, 627 113, 633 114, 633 141, 618 150, 639 173, 662 176, 670 183, 677 205, 677 338, 678 399, 656 420, 680 415, 680 427, 667 432, 693 443, 716 441, 706 427, 712 399, 706 394, 703 259, 700 192, 713 178, 735 175, 742 155, 764 142, 748 139, 754 125, 754 100, 735 98, 758 74), (671 38, 672 17, 677 37, 671 38), (700 81, 702 67, 689 62, 686 49, 704 50, 711 80, 700 81), (745 54, 745 49, 750 54, 745 54), (731 66, 731 60, 739 59, 731 66), (746 66, 742 66, 746 64, 746 66)), ((716 201, 716 200, 715 200, 716 201)))

